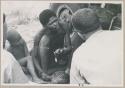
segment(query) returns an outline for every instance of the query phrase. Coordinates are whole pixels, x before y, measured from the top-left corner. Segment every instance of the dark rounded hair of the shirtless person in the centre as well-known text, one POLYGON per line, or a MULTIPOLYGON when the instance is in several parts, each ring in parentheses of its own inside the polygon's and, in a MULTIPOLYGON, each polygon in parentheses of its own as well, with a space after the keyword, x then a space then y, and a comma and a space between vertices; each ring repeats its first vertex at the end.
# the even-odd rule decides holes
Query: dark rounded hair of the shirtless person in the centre
POLYGON ((49 19, 53 16, 56 17, 56 14, 54 13, 54 11, 50 9, 46 9, 40 13, 39 20, 42 25, 46 25, 49 22, 49 19))

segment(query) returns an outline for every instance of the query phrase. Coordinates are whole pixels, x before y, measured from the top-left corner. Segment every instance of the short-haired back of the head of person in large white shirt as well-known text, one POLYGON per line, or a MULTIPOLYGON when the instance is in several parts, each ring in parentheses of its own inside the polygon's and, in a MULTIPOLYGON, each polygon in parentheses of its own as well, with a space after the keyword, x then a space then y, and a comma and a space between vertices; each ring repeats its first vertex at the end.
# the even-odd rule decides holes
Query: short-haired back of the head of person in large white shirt
POLYGON ((88 33, 100 26, 96 13, 89 8, 76 11, 72 16, 72 24, 81 33, 88 33))

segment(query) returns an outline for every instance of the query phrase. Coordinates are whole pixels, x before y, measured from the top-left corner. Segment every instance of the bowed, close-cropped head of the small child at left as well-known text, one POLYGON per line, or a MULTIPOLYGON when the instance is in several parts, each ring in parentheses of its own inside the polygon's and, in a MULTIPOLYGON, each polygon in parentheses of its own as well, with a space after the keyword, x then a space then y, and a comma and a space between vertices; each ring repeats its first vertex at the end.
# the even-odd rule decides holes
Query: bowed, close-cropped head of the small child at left
POLYGON ((7 40, 11 45, 16 44, 20 39, 22 38, 16 30, 9 30, 7 32, 7 40))

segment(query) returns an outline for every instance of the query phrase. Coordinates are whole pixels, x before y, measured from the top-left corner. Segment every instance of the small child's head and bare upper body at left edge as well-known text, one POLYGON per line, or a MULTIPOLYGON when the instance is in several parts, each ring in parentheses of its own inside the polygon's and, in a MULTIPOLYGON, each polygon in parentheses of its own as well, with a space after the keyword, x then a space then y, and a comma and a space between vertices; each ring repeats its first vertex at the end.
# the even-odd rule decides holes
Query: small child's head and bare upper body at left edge
POLYGON ((28 48, 26 42, 16 30, 9 30, 7 40, 10 43, 8 51, 10 51, 17 60, 28 56, 28 48))

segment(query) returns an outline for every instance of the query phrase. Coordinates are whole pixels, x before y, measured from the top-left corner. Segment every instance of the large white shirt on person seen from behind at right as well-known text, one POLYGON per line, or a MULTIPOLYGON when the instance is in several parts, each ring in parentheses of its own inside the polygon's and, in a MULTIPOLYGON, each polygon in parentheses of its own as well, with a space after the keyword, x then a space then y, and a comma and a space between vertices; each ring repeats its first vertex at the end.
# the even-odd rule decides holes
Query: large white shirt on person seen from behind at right
POLYGON ((122 85, 123 36, 121 30, 100 30, 91 35, 73 54, 71 84, 122 85))

